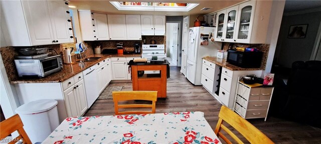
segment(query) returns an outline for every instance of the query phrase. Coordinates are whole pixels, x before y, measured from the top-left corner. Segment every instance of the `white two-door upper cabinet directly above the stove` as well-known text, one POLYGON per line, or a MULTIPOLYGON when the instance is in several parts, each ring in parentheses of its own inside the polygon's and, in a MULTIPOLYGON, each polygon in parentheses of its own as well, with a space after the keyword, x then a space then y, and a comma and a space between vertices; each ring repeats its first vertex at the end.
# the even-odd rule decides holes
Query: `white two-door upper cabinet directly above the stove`
POLYGON ((140 15, 141 35, 164 35, 166 27, 165 15, 140 15))

